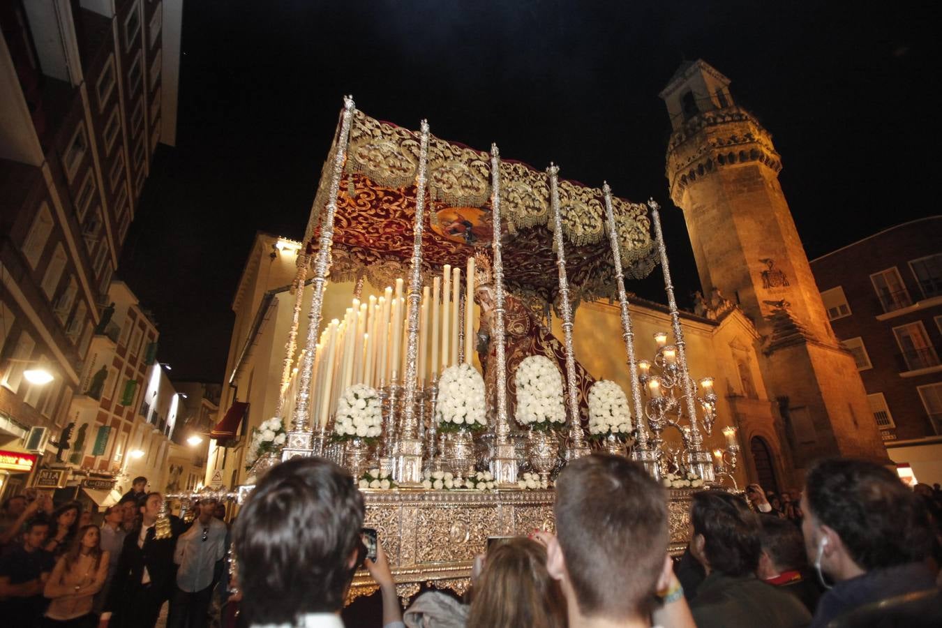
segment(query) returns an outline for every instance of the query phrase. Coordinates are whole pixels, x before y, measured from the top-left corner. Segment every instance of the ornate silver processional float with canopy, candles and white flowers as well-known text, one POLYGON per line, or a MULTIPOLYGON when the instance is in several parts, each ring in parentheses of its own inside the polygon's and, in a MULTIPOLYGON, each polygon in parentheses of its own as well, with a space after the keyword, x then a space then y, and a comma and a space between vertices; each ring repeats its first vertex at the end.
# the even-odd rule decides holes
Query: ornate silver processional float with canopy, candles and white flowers
MULTIPOLYGON (((488 536, 553 529, 548 476, 567 461, 587 455, 593 446, 637 459, 673 487, 673 551, 686 545, 691 488, 717 481, 703 440, 703 432, 709 434, 716 420, 716 395, 712 379, 701 379, 698 393, 690 378, 657 203, 645 206, 618 199, 608 184, 599 190, 560 180, 559 170, 550 165, 540 172, 502 161, 496 145, 483 153, 448 143, 431 136, 426 121, 416 134, 374 120, 345 98, 293 282, 294 309, 273 419, 277 425, 290 422, 290 427, 281 451, 271 448, 255 462, 250 476, 260 477, 269 466, 297 456, 323 456, 346 464, 365 492, 365 524, 378 530, 404 597, 423 583, 463 591, 473 558, 484 550, 488 536), (464 213, 446 211, 455 207, 464 213), (488 239, 490 256, 482 255, 488 239), (649 362, 636 355, 625 278, 640 279, 658 263, 674 342, 668 344, 668 335, 658 334, 658 349, 649 362), (465 264, 462 301, 460 268, 465 264), (452 398, 455 381, 466 382, 469 390, 478 386, 471 359, 471 312, 476 274, 486 270, 481 266, 490 266, 490 274, 482 276, 493 286, 480 300, 482 310, 488 301, 494 349, 493 358, 488 353, 488 379, 495 382, 495 390, 488 397, 493 397, 493 407, 489 404, 478 413, 486 416, 486 434, 475 439, 467 427, 479 424, 467 417, 476 409, 462 410, 468 423, 457 428, 447 413, 461 405, 452 398), (399 278, 406 268, 403 282, 399 278), (441 282, 439 268, 444 270, 441 282), (323 325, 327 283, 342 281, 356 282, 353 307, 343 322, 323 325), (379 299, 361 303, 364 281, 378 289, 390 287, 379 299), (301 348, 300 318, 308 282, 301 348), (625 394, 605 381, 594 384, 594 393, 580 389, 581 367, 573 349, 573 301, 612 296, 620 306, 631 399, 622 403, 625 418, 617 429, 596 420, 592 403, 608 400, 610 410, 625 394), (546 362, 531 361, 526 368, 524 362, 515 362, 516 372, 508 373, 508 298, 514 307, 526 302, 533 311, 548 313, 551 306, 556 310, 563 332, 558 362, 544 358, 546 362), (445 310, 441 325, 440 300, 445 310), (433 322, 427 330, 430 310, 433 322), (447 336, 441 351, 439 331, 447 336), (399 343, 404 345, 401 355, 399 343), (448 367, 444 371, 438 368, 439 358, 441 366, 448 367), (547 373, 550 384, 564 382, 556 389, 559 398, 545 402, 547 408, 552 403, 561 406, 556 426, 549 410, 545 421, 531 417, 528 432, 512 425, 508 378, 519 378, 527 369, 534 378, 547 373), (582 420, 586 397, 590 434, 582 420), (561 429, 557 436, 538 426, 561 429), (681 451, 664 444, 661 434, 667 427, 679 432, 681 451), (374 440, 378 443, 371 449, 374 440)), ((559 345, 555 339, 550 342, 559 345)), ((527 393, 527 385, 519 383, 518 396, 527 393)), ((465 395, 464 401, 468 398, 465 395)), ((517 408, 518 420, 526 411, 517 408)), ((727 448, 714 452, 724 472, 735 466, 739 449, 735 431, 726 434, 727 448)), ((241 491, 245 494, 251 487, 241 491)), ((351 595, 375 588, 367 575, 358 575, 351 595)))

